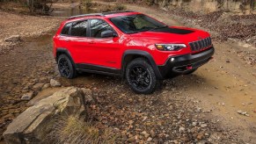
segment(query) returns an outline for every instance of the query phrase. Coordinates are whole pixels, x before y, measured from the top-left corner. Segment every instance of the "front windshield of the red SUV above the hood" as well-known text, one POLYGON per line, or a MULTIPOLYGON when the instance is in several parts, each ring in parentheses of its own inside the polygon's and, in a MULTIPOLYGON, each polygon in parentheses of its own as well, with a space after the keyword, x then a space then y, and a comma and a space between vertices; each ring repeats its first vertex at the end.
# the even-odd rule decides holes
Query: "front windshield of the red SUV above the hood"
POLYGON ((143 14, 114 17, 110 20, 125 33, 145 32, 167 26, 143 14))

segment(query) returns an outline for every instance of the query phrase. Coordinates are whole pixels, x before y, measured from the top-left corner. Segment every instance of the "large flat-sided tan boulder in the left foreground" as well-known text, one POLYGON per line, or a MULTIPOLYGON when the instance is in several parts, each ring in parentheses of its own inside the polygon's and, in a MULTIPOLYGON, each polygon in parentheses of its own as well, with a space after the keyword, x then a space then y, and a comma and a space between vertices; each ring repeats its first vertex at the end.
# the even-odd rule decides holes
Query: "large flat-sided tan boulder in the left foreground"
POLYGON ((8 144, 40 143, 46 139, 54 119, 84 113, 91 96, 84 90, 69 87, 59 90, 26 109, 7 127, 4 140, 8 144))

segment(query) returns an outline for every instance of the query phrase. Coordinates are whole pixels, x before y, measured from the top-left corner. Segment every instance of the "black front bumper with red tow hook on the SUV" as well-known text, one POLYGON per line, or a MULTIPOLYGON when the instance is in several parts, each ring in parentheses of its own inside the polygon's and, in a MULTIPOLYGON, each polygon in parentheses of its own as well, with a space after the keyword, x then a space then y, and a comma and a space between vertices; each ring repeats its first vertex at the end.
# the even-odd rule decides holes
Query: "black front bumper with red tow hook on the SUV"
POLYGON ((163 78, 179 76, 186 72, 199 68, 212 59, 215 53, 214 47, 209 47, 207 50, 196 54, 185 54, 170 57, 165 65, 157 66, 163 78))

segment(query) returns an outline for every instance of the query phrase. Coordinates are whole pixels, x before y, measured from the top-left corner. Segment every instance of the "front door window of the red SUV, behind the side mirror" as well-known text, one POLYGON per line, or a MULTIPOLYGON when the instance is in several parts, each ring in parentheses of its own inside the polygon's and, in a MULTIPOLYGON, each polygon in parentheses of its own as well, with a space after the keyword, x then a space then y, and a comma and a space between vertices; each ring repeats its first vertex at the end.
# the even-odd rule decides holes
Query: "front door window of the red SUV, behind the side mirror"
POLYGON ((106 30, 112 30, 113 28, 108 25, 104 20, 91 19, 91 37, 101 38, 101 32, 106 30))

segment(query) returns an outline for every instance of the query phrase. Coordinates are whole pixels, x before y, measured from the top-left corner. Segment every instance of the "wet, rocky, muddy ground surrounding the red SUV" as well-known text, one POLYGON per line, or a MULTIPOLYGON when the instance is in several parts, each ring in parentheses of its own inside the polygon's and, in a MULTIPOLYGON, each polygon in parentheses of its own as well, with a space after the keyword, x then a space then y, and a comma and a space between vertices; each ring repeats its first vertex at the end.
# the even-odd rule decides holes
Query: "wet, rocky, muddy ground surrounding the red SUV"
POLYGON ((255 47, 237 40, 222 40, 219 32, 207 25, 201 27, 201 21, 182 14, 137 5, 127 7, 169 25, 212 32, 214 60, 193 75, 165 80, 162 89, 154 94, 135 95, 119 77, 86 74, 73 80, 60 77, 52 55, 54 32, 26 39, 0 56, 1 133, 26 110, 28 103, 20 97, 28 91, 39 93, 36 97, 48 96, 54 90, 40 89, 54 78, 63 86, 90 88, 97 99, 91 105, 91 119, 99 129, 112 127, 121 141, 255 143, 255 47))

